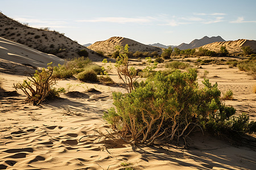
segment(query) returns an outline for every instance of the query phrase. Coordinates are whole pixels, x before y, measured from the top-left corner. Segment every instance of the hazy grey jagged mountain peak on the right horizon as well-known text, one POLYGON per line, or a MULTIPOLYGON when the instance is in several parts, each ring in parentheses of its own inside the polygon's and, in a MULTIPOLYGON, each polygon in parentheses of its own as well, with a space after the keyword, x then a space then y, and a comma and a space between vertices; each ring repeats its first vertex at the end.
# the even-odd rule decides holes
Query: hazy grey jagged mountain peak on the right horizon
POLYGON ((180 45, 177 46, 177 48, 184 50, 184 49, 193 49, 193 48, 198 48, 200 46, 206 45, 206 44, 210 44, 212 42, 223 42, 225 41, 224 39, 221 38, 221 36, 217 36, 217 37, 208 37, 208 36, 204 36, 202 39, 200 40, 193 40, 191 41, 189 44, 185 44, 182 43, 180 45))

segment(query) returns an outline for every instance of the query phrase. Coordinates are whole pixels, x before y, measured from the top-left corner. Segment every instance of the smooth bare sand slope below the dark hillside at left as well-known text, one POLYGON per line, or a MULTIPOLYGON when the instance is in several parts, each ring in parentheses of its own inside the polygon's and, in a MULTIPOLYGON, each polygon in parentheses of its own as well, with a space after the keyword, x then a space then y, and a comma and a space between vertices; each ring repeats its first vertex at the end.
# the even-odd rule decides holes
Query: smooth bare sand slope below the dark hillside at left
POLYGON ((47 67, 49 62, 58 65, 63 64, 64 60, 0 37, 0 71, 25 74, 40 67, 47 67))

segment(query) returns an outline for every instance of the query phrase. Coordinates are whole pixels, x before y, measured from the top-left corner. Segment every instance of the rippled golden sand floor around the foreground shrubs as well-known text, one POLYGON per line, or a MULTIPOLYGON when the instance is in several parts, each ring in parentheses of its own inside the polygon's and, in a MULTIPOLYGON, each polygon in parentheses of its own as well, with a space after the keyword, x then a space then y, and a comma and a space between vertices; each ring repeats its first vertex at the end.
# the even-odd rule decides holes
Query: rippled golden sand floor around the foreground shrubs
MULTIPOLYGON (((100 63, 98 63, 100 64, 100 63)), ((138 62, 134 62, 138 65, 138 62)), ((159 64, 163 69, 164 64, 159 64)), ((199 84, 204 70, 210 82, 222 92, 232 90, 237 114, 247 112, 256 120, 256 80, 237 67, 204 65, 199 69, 199 84)), ((110 75, 118 81, 116 75, 110 75)), ((13 91, 13 83, 27 76, 0 73, 2 87, 13 91)), ((201 85, 200 85, 201 86, 201 85)), ((0 169, 255 169, 256 142, 241 145, 221 141, 201 132, 191 135, 188 149, 183 145, 130 146, 122 141, 104 141, 110 126, 102 119, 112 106, 112 92, 118 86, 82 83, 77 79, 59 80, 68 94, 61 99, 34 106, 26 96, 0 98, 0 169), (86 92, 94 88, 99 92, 86 92), (233 144, 233 145, 232 145, 233 144)), ((255 136, 254 136, 255 137, 255 136)))

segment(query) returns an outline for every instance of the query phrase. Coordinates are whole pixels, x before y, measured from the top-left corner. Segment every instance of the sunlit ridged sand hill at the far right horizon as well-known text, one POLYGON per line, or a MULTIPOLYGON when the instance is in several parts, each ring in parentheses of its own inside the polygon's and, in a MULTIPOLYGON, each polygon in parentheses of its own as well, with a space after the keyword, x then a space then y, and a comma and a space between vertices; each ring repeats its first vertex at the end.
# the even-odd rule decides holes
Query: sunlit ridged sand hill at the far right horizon
POLYGON ((253 49, 254 52, 256 52, 256 41, 245 39, 239 39, 236 41, 213 42, 211 44, 201 46, 201 48, 218 52, 220 51, 221 46, 226 46, 226 49, 229 51, 229 53, 242 53, 242 46, 250 46, 251 49, 253 49))

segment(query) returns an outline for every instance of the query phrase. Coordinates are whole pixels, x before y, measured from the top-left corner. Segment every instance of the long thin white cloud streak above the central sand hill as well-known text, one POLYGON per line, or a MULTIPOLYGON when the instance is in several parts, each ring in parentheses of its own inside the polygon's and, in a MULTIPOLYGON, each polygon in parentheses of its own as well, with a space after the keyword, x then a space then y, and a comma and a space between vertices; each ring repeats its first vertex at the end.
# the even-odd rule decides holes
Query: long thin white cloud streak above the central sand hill
POLYGON ((98 23, 98 22, 108 22, 108 23, 150 23, 152 20, 155 20, 152 17, 146 18, 125 18, 125 17, 101 17, 94 19, 84 19, 76 20, 76 22, 88 22, 88 23, 98 23))

